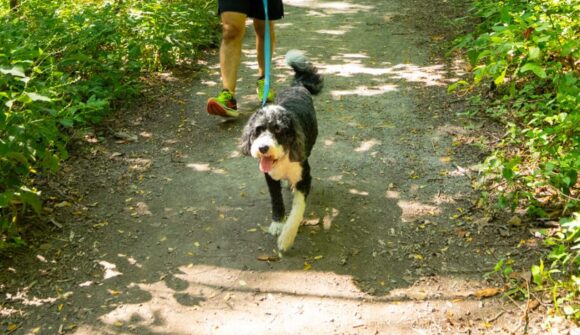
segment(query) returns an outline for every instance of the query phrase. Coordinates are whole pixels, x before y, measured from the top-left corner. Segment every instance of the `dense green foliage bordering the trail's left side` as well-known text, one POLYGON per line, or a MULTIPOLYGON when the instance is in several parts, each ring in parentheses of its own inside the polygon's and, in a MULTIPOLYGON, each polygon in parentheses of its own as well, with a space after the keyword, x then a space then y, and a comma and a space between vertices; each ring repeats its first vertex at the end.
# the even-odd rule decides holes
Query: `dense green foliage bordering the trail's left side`
POLYGON ((139 94, 140 77, 214 46, 211 0, 0 3, 0 247, 41 211, 34 179, 67 158, 67 137, 139 94))

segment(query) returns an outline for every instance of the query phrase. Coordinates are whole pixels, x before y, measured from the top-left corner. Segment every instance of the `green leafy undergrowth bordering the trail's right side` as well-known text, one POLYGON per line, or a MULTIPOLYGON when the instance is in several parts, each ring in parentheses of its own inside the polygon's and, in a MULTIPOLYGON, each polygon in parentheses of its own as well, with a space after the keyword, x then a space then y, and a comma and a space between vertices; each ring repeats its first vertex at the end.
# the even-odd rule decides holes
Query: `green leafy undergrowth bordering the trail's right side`
MULTIPOLYGON (((474 101, 506 125, 484 164, 486 194, 532 217, 565 217, 580 207, 580 2, 476 0, 474 15, 475 31, 457 41, 473 80, 449 89, 481 92, 474 101)), ((556 310, 578 318, 578 216, 570 222, 546 237, 550 253, 532 272, 556 310)))

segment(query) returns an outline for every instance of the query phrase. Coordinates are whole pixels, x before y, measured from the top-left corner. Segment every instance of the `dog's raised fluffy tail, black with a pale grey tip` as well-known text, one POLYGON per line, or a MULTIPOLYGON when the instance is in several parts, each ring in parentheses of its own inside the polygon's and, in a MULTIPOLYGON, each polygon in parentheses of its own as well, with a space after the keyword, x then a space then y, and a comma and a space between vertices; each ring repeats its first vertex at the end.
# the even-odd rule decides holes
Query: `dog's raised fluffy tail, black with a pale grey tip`
POLYGON ((286 63, 294 70, 292 86, 304 86, 311 94, 318 94, 324 86, 324 78, 302 51, 289 50, 286 63))

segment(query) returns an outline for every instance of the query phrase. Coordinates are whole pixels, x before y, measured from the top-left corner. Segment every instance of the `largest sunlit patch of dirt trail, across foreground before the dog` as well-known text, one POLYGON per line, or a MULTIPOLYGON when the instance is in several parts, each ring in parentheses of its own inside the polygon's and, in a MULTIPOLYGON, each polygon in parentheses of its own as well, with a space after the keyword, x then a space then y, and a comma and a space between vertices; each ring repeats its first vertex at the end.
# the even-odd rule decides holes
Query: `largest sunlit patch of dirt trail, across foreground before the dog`
POLYGON ((443 283, 437 289, 428 285, 433 277, 424 277, 384 297, 361 292, 350 275, 326 271, 248 272, 190 264, 172 278, 179 287, 167 280, 128 284, 123 291, 140 292, 148 300, 118 304, 99 318, 99 326, 80 324, 71 333, 166 334, 168 325, 172 334, 325 334, 331 326, 343 333, 397 329, 445 313, 469 315, 465 308, 480 304, 465 300, 473 286, 446 277, 437 279, 443 283), (442 299, 449 300, 445 308, 434 308, 442 299))

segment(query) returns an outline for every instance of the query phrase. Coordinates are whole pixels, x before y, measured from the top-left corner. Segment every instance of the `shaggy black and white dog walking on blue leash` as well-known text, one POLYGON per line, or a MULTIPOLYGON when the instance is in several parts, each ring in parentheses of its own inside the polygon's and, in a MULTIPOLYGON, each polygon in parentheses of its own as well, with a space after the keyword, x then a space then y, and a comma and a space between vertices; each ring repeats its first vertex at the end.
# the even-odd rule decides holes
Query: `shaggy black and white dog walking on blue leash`
POLYGON ((304 219, 312 182, 308 157, 318 136, 311 94, 319 93, 323 85, 316 67, 300 51, 288 51, 286 62, 294 69, 292 86, 278 92, 274 104, 250 117, 240 144, 244 155, 259 160, 260 171, 266 176, 272 200, 269 231, 279 235, 278 248, 282 251, 292 247, 304 219), (281 180, 287 180, 294 193, 285 223, 281 180))

